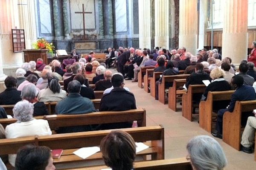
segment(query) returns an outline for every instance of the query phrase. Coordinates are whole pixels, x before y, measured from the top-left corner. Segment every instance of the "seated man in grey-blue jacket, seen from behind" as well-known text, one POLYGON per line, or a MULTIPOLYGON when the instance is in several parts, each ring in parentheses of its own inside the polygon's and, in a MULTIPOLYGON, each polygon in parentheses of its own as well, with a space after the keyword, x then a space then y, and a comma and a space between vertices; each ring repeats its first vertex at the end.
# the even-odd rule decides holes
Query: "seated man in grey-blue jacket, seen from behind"
MULTIPOLYGON (((79 81, 73 80, 69 82, 67 90, 69 91, 67 98, 62 99, 55 107, 56 114, 85 114, 96 111, 93 102, 79 94, 81 90, 81 84, 79 81)), ((58 128, 56 132, 73 133, 88 130, 91 130, 90 126, 72 126, 58 128)))

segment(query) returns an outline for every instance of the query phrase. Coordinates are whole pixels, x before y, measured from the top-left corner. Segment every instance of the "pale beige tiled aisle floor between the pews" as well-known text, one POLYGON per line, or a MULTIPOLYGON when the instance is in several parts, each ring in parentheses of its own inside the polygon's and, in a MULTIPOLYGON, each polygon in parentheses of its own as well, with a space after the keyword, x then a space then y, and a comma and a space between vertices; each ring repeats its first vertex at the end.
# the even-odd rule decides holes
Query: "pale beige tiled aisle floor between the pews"
MULTIPOLYGON (((146 109, 146 124, 163 125, 165 128, 165 158, 186 157, 186 144, 193 136, 208 135, 210 133, 199 127, 198 116, 194 116, 194 121, 182 117, 181 109, 174 112, 168 108, 168 105, 163 105, 155 100, 144 89, 137 86, 137 82, 125 81, 125 87, 130 88, 135 95, 137 108, 146 109)), ((239 152, 221 139, 216 139, 224 148, 227 156, 228 165, 225 170, 256 170, 256 161, 254 161, 254 153, 247 154, 239 152)))

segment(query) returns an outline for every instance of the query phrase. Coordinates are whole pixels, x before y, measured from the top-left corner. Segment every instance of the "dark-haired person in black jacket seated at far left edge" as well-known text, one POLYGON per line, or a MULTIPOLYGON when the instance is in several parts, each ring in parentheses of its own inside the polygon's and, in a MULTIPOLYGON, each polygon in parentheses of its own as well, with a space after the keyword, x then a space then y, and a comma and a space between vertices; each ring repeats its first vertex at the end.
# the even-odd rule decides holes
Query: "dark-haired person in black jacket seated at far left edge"
POLYGON ((4 84, 6 89, 0 93, 0 105, 15 105, 21 100, 21 91, 17 91, 16 88, 17 80, 12 76, 8 76, 4 80, 4 84))

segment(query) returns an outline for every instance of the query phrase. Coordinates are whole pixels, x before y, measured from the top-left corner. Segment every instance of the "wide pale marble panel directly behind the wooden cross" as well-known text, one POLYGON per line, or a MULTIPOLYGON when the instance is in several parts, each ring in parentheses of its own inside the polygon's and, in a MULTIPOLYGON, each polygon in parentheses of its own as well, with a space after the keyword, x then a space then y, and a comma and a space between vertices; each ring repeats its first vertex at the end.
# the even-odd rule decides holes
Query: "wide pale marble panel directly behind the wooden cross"
POLYGON ((70 0, 70 17, 71 29, 83 29, 83 14, 75 14, 75 12, 82 12, 84 4, 85 12, 92 12, 92 14, 84 14, 85 28, 95 29, 95 2, 94 0, 70 0))

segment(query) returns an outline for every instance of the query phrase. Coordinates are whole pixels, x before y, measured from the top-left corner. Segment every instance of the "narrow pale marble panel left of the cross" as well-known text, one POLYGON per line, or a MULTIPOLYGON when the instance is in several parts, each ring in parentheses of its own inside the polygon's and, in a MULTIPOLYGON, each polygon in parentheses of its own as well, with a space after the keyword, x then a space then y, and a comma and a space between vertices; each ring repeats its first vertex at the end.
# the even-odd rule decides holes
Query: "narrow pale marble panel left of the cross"
POLYGON ((41 34, 52 34, 51 11, 49 0, 38 0, 41 34))

